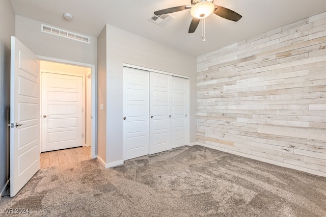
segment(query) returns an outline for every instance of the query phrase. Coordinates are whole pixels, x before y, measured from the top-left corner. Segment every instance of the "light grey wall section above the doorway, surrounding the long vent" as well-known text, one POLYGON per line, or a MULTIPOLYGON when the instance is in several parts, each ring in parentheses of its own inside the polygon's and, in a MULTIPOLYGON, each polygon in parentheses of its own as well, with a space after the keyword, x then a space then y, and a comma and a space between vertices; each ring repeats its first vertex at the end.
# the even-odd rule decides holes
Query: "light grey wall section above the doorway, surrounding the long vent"
POLYGON ((36 55, 96 65, 97 38, 90 37, 87 44, 43 33, 42 23, 16 15, 16 37, 36 55))

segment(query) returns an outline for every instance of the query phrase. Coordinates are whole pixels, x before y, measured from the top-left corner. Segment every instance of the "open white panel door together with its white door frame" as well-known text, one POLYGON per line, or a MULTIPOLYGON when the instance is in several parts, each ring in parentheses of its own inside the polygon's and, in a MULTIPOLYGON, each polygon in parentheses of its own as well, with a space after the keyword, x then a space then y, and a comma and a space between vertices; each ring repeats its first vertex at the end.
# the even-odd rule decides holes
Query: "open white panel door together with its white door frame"
MULTIPOLYGON (((96 158, 97 143, 97 74, 95 65, 36 56, 33 51, 11 37, 10 69, 10 196, 20 189, 40 169, 40 62, 89 68, 87 75, 91 158, 96 158), (92 78, 92 79, 91 79, 92 78)), ((57 65, 58 66, 58 65, 57 65)), ((50 69, 49 69, 50 70, 50 69)), ((56 70, 54 70, 56 71, 56 70)))

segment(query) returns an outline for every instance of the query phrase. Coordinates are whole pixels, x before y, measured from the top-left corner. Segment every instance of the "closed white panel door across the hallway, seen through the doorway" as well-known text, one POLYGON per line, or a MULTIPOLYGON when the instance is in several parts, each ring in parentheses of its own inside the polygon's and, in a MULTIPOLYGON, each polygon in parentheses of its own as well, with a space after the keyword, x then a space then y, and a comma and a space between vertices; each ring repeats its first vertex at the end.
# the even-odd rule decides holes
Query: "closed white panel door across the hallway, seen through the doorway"
POLYGON ((42 152, 83 146, 83 77, 42 72, 42 152))

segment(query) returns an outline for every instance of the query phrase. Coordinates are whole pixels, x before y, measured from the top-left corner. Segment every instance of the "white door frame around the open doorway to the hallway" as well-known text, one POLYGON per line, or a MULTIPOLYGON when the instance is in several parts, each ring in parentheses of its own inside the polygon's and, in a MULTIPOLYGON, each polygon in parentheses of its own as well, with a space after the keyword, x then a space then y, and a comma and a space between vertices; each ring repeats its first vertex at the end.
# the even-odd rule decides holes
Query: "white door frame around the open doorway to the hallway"
POLYGON ((92 95, 92 129, 91 129, 91 158, 97 158, 97 72, 95 70, 95 65, 74 62, 69 60, 62 60, 57 58, 50 58, 44 56, 38 56, 38 58, 42 61, 51 61, 56 63, 70 64, 82 67, 91 68, 91 95, 92 95))

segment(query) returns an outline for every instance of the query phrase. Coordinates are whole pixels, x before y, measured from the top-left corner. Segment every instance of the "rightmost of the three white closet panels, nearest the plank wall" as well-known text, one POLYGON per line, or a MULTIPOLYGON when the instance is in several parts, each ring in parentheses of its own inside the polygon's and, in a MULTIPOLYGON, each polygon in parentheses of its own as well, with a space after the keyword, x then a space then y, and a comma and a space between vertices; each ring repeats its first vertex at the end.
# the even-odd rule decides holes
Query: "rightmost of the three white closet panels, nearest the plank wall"
POLYGON ((188 82, 172 77, 172 148, 188 144, 188 82))

